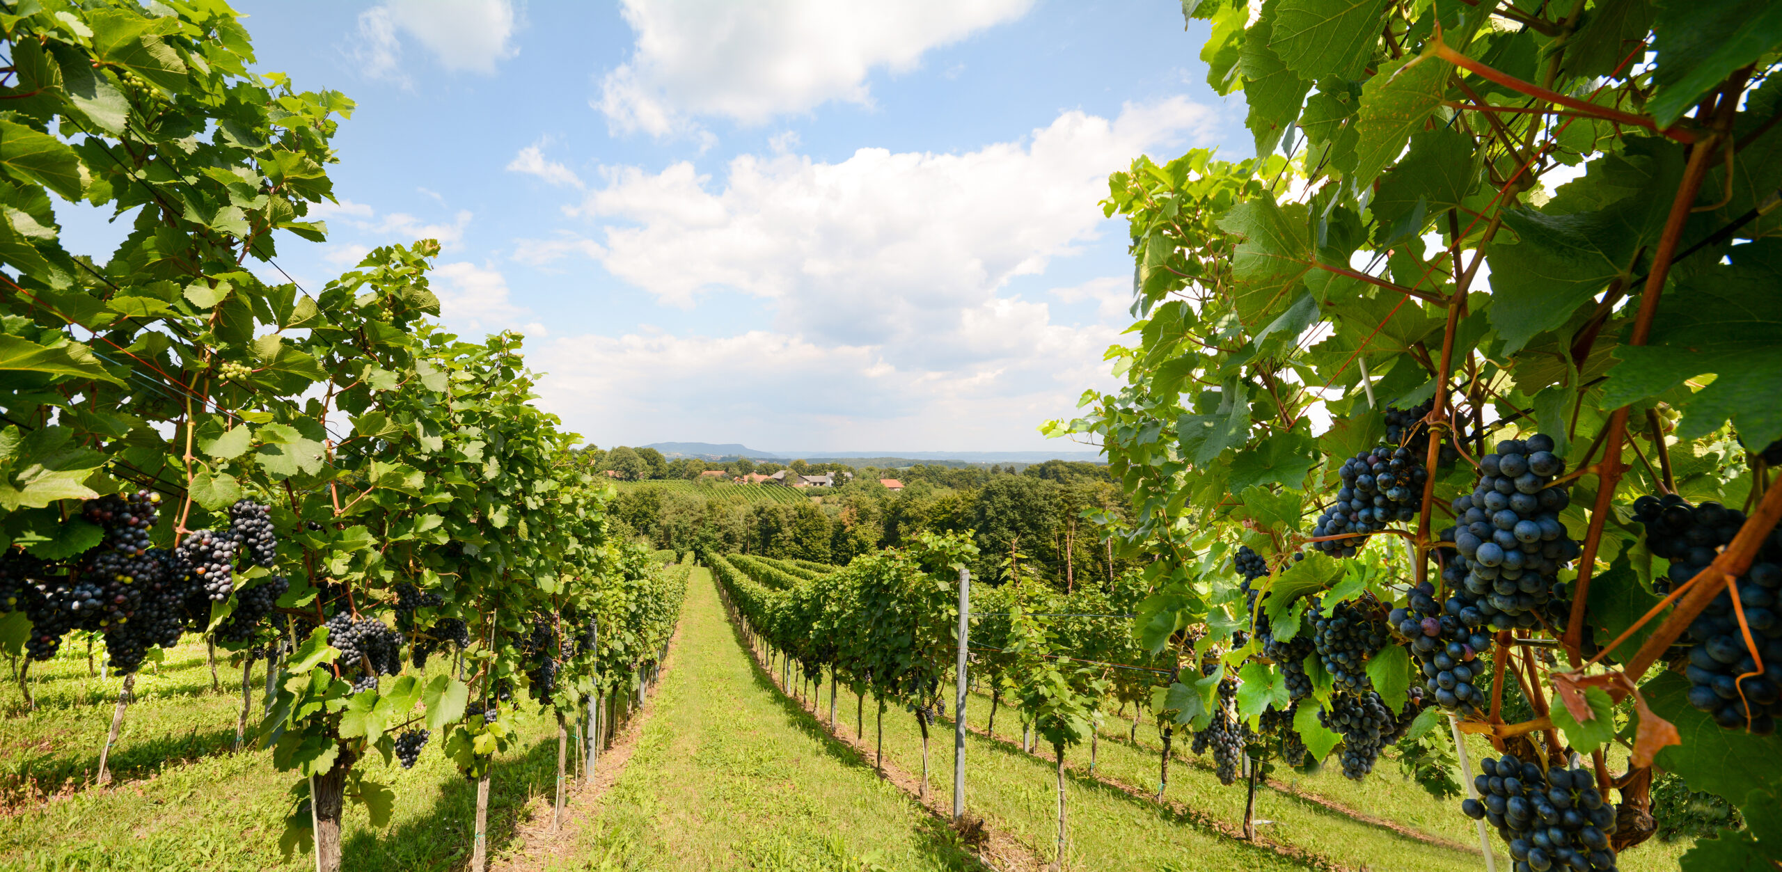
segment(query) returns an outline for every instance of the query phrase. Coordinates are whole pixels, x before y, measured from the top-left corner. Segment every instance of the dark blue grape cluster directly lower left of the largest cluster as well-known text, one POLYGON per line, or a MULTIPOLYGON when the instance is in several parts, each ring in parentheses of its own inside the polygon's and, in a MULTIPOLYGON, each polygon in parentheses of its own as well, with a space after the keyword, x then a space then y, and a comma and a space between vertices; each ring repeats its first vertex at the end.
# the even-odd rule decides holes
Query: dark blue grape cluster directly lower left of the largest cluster
POLYGON ((1386 622, 1410 638, 1424 687, 1438 706, 1449 712, 1477 708, 1483 695, 1474 679, 1484 674, 1484 663, 1477 658, 1490 651, 1492 635, 1479 626, 1483 615, 1477 608, 1459 597, 1449 597, 1438 606, 1435 597, 1435 585, 1417 585, 1410 606, 1394 608, 1386 622))

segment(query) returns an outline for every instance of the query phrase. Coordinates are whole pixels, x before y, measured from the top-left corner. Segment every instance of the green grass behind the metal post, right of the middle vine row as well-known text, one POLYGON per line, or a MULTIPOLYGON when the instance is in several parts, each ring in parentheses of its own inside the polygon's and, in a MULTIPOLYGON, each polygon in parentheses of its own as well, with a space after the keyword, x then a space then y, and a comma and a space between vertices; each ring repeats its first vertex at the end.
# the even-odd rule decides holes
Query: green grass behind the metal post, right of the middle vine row
MULTIPOLYGON (((827 692, 827 690, 825 690, 827 692)), ((854 699, 843 688, 838 704, 841 729, 854 729, 854 699)), ((968 722, 982 728, 989 715, 989 697, 973 694, 968 722)), ((921 770, 921 733, 914 717, 896 706, 886 712, 886 758, 909 772, 921 770)), ((1126 740, 1128 722, 1110 720, 1096 756, 1096 774, 1140 790, 1155 790, 1158 777, 1160 736, 1149 724, 1140 724, 1139 744, 1126 740)), ((973 813, 987 817, 993 827, 1014 833, 1037 854, 1051 858, 1055 838, 1055 772, 1051 751, 1044 758, 1023 754, 1019 749, 1019 720, 1003 706, 996 715, 996 733, 1003 742, 971 735, 966 744, 966 804, 973 813)), ((930 728, 930 783, 936 790, 950 790, 953 767, 952 722, 930 728)), ((873 740, 873 697, 866 697, 866 740, 873 740)), ((1477 760, 1490 745, 1470 736, 1468 749, 1477 760)), ((1187 742, 1176 742, 1169 767, 1165 799, 1189 810, 1212 815, 1215 820, 1238 827, 1244 819, 1244 785, 1224 786, 1214 774, 1212 760, 1192 758, 1187 742)), ((1089 747, 1071 749, 1066 761, 1087 769, 1089 747)), ((1625 763, 1618 763, 1623 767, 1625 763)), ((1459 801, 1435 801, 1417 783, 1399 774, 1392 760, 1381 760, 1374 774, 1361 783, 1342 777, 1338 767, 1304 776, 1278 770, 1276 781, 1288 788, 1324 797, 1369 817, 1385 819, 1458 845, 1477 845, 1477 826, 1459 813, 1459 801)), ((1128 794, 1112 790, 1083 777, 1067 776, 1066 804, 1069 808, 1069 852, 1073 868, 1169 868, 1171 851, 1194 851, 1196 858, 1219 858, 1208 865, 1180 865, 1176 868, 1271 868, 1253 856, 1224 856, 1189 847, 1192 836, 1222 842, 1222 851, 1240 845, 1199 827, 1192 820, 1128 794), (1124 808, 1123 808, 1124 806, 1124 808), (1146 813, 1146 810, 1151 810, 1146 813), (1178 847, 1180 845, 1180 847, 1178 847)), ((1481 870, 1484 861, 1474 851, 1410 838, 1388 827, 1356 820, 1312 799, 1296 797, 1267 786, 1256 792, 1256 820, 1269 820, 1258 833, 1274 842, 1308 851, 1349 868, 1388 870, 1481 870)), ((1504 845, 1492 835, 1499 868, 1509 868, 1504 845)), ((1689 842, 1663 843, 1650 840, 1622 856, 1620 868, 1627 872, 1657 872, 1677 868, 1677 858, 1689 842)))

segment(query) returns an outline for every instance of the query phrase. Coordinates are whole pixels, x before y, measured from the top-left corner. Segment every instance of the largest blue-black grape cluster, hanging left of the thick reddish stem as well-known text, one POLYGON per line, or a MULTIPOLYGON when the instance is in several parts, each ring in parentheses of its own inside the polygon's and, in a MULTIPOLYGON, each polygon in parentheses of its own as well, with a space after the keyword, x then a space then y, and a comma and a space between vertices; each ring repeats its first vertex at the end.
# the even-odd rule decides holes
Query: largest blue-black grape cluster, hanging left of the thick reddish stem
MULTIPOLYGON (((1582 549, 1559 522, 1570 498, 1549 487, 1565 471, 1552 448, 1547 435, 1499 442, 1495 455, 1479 458, 1483 474, 1474 492, 1454 499, 1458 526, 1443 530, 1442 539, 1454 542, 1459 555, 1442 578, 1463 606, 1477 612, 1479 624, 1468 626, 1533 628, 1566 608, 1557 572, 1582 549)), ((1472 617, 1463 615, 1463 622, 1472 617)))

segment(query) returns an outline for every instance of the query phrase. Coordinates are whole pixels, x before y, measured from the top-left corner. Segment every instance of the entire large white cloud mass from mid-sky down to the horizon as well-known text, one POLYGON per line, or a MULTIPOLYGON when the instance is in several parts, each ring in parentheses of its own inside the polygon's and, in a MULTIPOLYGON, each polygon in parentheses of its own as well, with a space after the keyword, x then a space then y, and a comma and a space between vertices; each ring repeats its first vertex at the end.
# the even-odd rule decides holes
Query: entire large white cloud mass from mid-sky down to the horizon
POLYGON ((1130 323, 1132 280, 1039 284, 1032 298, 1010 282, 1112 225, 1098 207, 1110 171, 1214 121, 1176 98, 1112 121, 1064 112, 1025 141, 959 155, 745 155, 722 180, 691 164, 606 168, 574 209, 599 243, 526 241, 515 259, 592 257, 670 305, 740 292, 775 323, 731 337, 563 335, 533 350, 544 401, 599 444, 718 439, 711 423, 723 421, 723 440, 759 448, 1059 448, 1035 426, 1073 414, 1085 387, 1114 387, 1101 353, 1130 323))

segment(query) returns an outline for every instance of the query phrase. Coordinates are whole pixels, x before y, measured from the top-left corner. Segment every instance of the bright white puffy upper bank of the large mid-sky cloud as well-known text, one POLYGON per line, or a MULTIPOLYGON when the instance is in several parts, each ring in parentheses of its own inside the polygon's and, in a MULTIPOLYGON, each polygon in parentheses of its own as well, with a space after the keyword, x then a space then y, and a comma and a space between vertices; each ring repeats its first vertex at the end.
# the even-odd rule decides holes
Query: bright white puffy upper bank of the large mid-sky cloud
POLYGON ((577 214, 604 219, 602 266, 663 303, 741 291, 772 300, 788 333, 889 344, 902 364, 957 335, 962 312, 1010 278, 1096 239, 1110 171, 1212 121, 1171 98, 1114 121, 1064 112, 1025 143, 962 155, 743 155, 722 187, 686 162, 609 168, 577 214))

